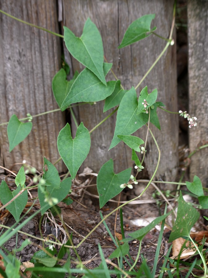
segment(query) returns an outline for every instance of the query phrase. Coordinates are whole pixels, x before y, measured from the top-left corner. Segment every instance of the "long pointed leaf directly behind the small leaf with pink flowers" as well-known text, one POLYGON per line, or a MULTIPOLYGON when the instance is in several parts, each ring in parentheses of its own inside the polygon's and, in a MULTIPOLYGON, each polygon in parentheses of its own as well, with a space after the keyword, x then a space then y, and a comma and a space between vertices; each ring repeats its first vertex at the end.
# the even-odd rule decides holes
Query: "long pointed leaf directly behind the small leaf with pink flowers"
POLYGON ((125 93, 120 102, 116 117, 116 128, 109 150, 121 141, 117 135, 130 135, 148 122, 148 115, 145 113, 137 115, 137 108, 137 93, 132 87, 125 93))

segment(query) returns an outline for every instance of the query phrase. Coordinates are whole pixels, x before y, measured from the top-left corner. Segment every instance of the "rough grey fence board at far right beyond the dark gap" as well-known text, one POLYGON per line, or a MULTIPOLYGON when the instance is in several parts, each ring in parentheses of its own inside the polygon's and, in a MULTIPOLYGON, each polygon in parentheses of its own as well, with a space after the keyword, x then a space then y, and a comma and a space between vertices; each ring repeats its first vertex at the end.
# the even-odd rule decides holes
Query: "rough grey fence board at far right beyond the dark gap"
MULTIPOLYGON (((197 117, 197 127, 189 129, 190 152, 208 143, 208 2, 188 1, 189 114, 197 117)), ((208 149, 191 158, 190 179, 197 175, 208 187, 208 149)))

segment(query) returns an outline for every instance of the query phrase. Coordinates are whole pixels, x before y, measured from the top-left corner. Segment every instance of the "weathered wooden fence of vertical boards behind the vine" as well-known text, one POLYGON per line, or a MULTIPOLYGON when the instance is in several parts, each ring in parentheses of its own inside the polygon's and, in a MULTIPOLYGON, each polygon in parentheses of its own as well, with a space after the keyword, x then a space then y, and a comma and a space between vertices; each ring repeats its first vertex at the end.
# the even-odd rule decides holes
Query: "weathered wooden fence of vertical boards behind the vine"
MULTIPOLYGON (((59 32, 57 6, 59 6, 59 13, 60 7, 62 7, 63 20, 61 22, 61 32, 63 32, 62 26, 65 25, 76 36, 81 35, 84 22, 90 17, 101 33, 105 57, 108 62, 113 63, 112 69, 121 80, 124 88, 130 89, 131 86, 136 86, 141 80, 161 53, 166 43, 152 35, 146 40, 123 49, 117 49, 117 46, 120 44, 128 25, 138 17, 150 13, 156 14, 153 24, 157 26, 157 33, 168 38, 173 15, 173 2, 173 0, 62 0, 57 3, 55 0, 21 0, 17 3, 14 0, 1 0, 0 9, 22 20, 45 27, 54 32, 59 32)), ((206 14, 207 4, 207 1, 201 0, 190 0, 188 3, 190 30, 191 28, 197 28, 196 22, 198 21, 198 26, 200 24, 204 26, 204 32, 202 30, 198 30, 198 33, 195 31, 189 32, 190 54, 194 52, 191 48, 198 46, 197 43, 192 44, 192 40, 197 42, 198 39, 196 36, 200 37, 202 44, 204 42, 203 55, 207 54, 207 43, 205 44, 207 41, 205 32, 207 17, 200 17, 200 11, 206 14), (199 5, 198 17, 194 13, 194 6, 192 7, 191 5, 199 5)), ((67 53, 63 45, 63 40, 34 27, 26 26, 6 15, 0 14, 0 22, 0 122, 7 122, 12 114, 16 114, 18 118, 23 118, 27 113, 35 115, 57 108, 58 106, 55 103, 51 91, 51 81, 55 72, 60 69, 62 47, 66 60, 71 66, 71 73, 75 70, 82 70, 82 65, 67 53)), ((194 65, 196 59, 198 59, 197 53, 199 53, 199 56, 201 55, 199 50, 198 52, 194 52, 190 57, 190 59, 193 59, 190 62, 193 61, 194 65)), ((203 74, 205 75, 207 72, 206 59, 200 60, 198 65, 204 68, 203 74)), ((204 102, 202 105, 200 101, 202 95, 198 95, 194 106, 190 102, 189 111, 191 115, 195 114, 198 116, 198 119, 202 118, 200 116, 201 114, 203 115, 203 119, 205 119, 207 116, 207 78, 201 75, 199 76, 197 70, 194 67, 189 68, 190 99, 191 95, 193 95, 191 92, 195 90, 195 86, 200 80, 200 92, 204 93, 204 102), (191 71, 193 72, 191 73, 191 71), (193 78, 191 74, 194 75, 193 78)), ((113 78, 113 76, 111 75, 109 78, 113 78)), ((138 93, 146 85, 148 86, 149 92, 157 88, 158 100, 165 103, 168 110, 177 111, 175 45, 169 47, 165 55, 153 68, 147 78, 145 78, 144 82, 138 88, 138 93)), ((197 91, 199 92, 199 90, 197 91)), ((103 114, 103 105, 104 103, 100 102, 94 106, 86 104, 78 107, 75 111, 78 121, 83 121, 88 129, 93 128, 100 120, 108 115, 108 112, 103 114)), ((161 162, 157 171, 157 178, 173 180, 177 175, 178 166, 178 116, 164 114, 162 111, 159 111, 158 114, 161 131, 151 127, 161 149, 161 162)), ((91 167, 93 171, 98 172, 103 163, 109 158, 114 159, 116 172, 132 166, 131 151, 122 142, 108 151, 113 137, 115 121, 116 114, 92 133, 91 150, 84 162, 84 166, 91 167)), ((26 159, 29 164, 41 170, 43 156, 47 157, 51 162, 54 162, 59 158, 56 146, 57 135, 59 130, 65 125, 65 122, 65 113, 61 112, 54 112, 34 118, 31 134, 16 146, 10 154, 8 153, 9 147, 6 126, 1 126, 0 165, 11 168, 14 163, 26 159)), ((206 121, 199 120, 198 127, 194 130, 194 133, 200 134, 201 141, 207 140, 208 129, 206 123, 206 121)), ((190 138, 192 136, 196 138, 192 132, 193 129, 191 129, 190 138)), ((72 133, 75 133, 75 130, 72 133)), ((136 134, 141 138, 145 138, 146 127, 143 127, 136 134)), ((190 140, 191 149, 193 150, 198 143, 199 140, 190 140)), ((148 139, 147 150, 145 168, 150 176, 155 170, 158 158, 157 149, 151 136, 148 139)), ((199 157, 202 155, 199 153, 199 157)), ((194 165, 196 161, 194 159, 191 165, 192 175, 198 174, 198 168, 194 165)), ((65 170, 63 163, 59 162, 57 167, 60 172, 65 170)), ((200 167, 202 179, 205 181, 205 176, 206 178, 208 177, 205 160, 204 164, 200 167)))

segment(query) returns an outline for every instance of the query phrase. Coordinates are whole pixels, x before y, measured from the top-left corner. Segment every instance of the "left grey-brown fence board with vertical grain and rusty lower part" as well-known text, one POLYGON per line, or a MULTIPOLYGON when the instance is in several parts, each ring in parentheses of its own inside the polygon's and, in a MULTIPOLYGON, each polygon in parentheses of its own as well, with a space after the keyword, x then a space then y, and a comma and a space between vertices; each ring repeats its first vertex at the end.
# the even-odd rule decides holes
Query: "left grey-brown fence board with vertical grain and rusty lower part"
MULTIPOLYGON (((59 32, 56 1, 2 0, 0 9, 19 19, 59 32)), ((0 122, 58 108, 51 81, 60 68, 60 38, 0 14, 0 122)), ((39 171, 43 156, 59 158, 57 136, 64 126, 61 112, 33 119, 31 134, 9 154, 7 126, 0 127, 0 164, 7 168, 25 159, 39 171)), ((17 167, 19 168, 19 166, 17 167)), ((65 169, 59 163, 59 171, 65 169)))

